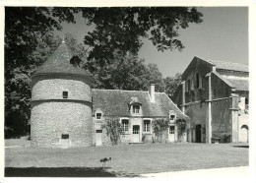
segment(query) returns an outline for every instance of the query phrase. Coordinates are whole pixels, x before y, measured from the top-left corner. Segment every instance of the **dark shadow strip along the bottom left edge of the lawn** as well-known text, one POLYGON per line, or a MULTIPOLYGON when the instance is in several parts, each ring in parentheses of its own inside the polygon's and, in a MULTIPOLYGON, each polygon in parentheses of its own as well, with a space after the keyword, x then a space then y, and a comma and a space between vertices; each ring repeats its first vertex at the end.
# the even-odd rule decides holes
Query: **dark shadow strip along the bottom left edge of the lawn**
MULTIPOLYGON (((106 168, 109 169, 109 168, 106 168)), ((6 177, 136 177, 102 167, 6 167, 6 177)))

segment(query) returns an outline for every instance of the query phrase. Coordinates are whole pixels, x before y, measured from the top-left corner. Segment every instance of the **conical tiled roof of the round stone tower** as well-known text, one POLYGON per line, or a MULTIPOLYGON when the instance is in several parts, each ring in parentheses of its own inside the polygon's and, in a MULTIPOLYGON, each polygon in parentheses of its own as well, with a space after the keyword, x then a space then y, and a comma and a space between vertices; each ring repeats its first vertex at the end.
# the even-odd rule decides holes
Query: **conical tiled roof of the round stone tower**
POLYGON ((73 57, 64 41, 43 64, 36 68, 33 75, 39 74, 74 74, 89 76, 84 69, 70 63, 73 57))

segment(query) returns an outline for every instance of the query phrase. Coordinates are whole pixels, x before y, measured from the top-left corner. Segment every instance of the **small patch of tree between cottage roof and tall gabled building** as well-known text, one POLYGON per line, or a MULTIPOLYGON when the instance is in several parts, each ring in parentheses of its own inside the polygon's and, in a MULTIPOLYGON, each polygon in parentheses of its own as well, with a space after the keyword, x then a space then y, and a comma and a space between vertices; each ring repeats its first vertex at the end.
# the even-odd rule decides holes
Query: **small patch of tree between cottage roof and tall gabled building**
POLYGON ((176 73, 174 77, 166 77, 163 82, 165 86, 164 92, 171 98, 181 82, 181 74, 176 73))

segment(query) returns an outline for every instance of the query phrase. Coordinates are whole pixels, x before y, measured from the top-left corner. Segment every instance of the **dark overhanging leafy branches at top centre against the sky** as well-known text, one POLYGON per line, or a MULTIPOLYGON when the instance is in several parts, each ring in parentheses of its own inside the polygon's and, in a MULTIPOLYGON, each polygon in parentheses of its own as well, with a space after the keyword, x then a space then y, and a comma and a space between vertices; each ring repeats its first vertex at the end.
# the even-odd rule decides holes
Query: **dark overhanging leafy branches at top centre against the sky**
POLYGON ((158 50, 179 49, 184 45, 177 39, 179 29, 190 23, 201 23, 203 15, 191 7, 111 7, 82 8, 83 17, 95 30, 85 36, 92 49, 89 60, 101 65, 110 62, 113 52, 130 51, 137 54, 142 38, 150 39, 158 50))

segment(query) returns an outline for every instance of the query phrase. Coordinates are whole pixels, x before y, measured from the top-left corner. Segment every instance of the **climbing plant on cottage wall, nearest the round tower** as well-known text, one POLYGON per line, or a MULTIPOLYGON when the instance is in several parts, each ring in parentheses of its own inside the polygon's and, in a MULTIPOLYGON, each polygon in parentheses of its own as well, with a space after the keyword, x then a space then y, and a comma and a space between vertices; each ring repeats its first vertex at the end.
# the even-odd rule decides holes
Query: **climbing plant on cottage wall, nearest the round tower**
POLYGON ((122 127, 119 119, 106 119, 105 124, 101 128, 106 130, 106 135, 109 136, 112 146, 117 145, 121 141, 122 127))

